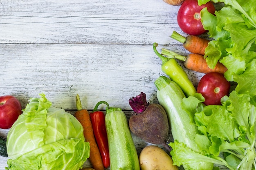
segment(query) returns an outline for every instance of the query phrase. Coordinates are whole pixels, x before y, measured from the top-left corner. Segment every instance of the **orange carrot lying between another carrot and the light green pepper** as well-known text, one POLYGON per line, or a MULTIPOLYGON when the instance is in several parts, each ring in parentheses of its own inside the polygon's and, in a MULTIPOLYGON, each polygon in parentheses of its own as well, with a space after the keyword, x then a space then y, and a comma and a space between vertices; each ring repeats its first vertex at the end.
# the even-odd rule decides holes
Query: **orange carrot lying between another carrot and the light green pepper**
POLYGON ((199 73, 218 72, 224 74, 227 71, 222 63, 217 62, 216 66, 212 69, 209 68, 203 55, 191 53, 187 56, 182 56, 173 51, 162 49, 162 55, 166 55, 168 58, 176 58, 184 61, 184 66, 189 70, 197 71, 199 73))

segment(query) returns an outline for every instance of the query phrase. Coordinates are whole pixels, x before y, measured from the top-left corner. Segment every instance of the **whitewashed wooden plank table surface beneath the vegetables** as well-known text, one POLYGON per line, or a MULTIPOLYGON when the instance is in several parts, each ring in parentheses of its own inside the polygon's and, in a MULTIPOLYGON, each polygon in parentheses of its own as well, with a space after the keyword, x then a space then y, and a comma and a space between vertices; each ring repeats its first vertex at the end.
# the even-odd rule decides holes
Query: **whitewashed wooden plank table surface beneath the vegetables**
MULTIPOLYGON (((174 30, 185 35, 178 9, 162 0, 1 0, 0 95, 17 97, 25 108, 45 93, 73 114, 79 94, 85 109, 105 100, 129 119, 130 97, 144 92, 157 102, 154 81, 164 73, 153 43, 188 54, 169 37, 174 30)), ((197 86, 202 74, 184 69, 197 86)), ((0 136, 7 133, 0 129, 0 136)), ((133 139, 138 154, 149 145, 133 139)), ((7 159, 0 156, 0 170, 7 159)))

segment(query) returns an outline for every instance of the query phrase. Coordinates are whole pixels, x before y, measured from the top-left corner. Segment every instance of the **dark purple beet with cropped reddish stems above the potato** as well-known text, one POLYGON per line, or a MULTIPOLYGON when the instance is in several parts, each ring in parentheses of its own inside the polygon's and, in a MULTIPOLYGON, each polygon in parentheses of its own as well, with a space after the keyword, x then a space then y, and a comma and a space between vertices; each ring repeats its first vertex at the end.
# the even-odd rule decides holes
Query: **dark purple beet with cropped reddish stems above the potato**
POLYGON ((146 142, 162 145, 171 151, 166 144, 169 124, 164 108, 159 104, 149 104, 143 92, 130 98, 129 104, 135 112, 129 120, 132 133, 146 142))

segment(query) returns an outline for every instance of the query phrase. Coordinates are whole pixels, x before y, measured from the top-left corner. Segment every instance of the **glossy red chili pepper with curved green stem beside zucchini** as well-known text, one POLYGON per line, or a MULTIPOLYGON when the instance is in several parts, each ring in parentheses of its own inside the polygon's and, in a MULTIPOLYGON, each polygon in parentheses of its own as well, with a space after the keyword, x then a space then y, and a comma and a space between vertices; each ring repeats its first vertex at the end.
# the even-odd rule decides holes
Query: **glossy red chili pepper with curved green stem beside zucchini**
POLYGON ((90 113, 90 118, 92 122, 93 133, 101 154, 103 166, 108 168, 110 166, 108 137, 105 125, 105 114, 98 110, 98 106, 100 104, 106 104, 109 107, 108 103, 105 101, 98 102, 92 110, 92 113, 90 113))

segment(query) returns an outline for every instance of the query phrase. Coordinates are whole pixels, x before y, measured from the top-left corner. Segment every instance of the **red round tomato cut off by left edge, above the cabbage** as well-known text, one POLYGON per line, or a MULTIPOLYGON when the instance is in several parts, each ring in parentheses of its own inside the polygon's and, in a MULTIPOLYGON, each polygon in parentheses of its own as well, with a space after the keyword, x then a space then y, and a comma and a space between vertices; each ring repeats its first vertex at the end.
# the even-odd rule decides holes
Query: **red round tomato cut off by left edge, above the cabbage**
POLYGON ((21 113, 21 104, 16 97, 0 96, 0 128, 11 128, 21 113))

